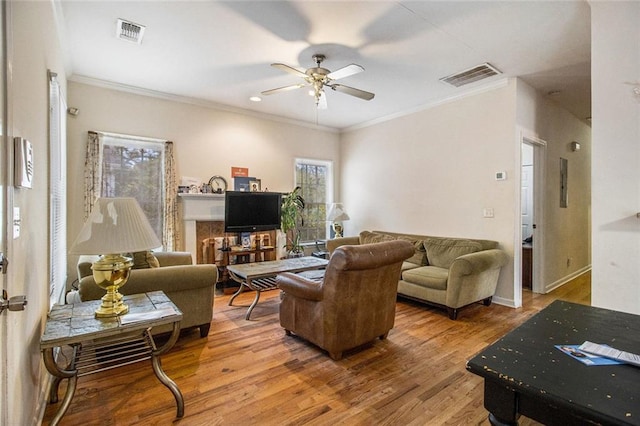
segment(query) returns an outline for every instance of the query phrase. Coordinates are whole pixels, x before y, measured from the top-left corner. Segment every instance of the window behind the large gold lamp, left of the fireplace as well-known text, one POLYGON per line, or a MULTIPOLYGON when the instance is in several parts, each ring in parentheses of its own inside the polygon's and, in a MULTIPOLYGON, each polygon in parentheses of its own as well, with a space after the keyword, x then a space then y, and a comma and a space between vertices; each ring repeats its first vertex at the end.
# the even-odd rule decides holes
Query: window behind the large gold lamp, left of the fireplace
POLYGON ((164 141, 105 134, 102 197, 133 197, 159 237, 164 226, 164 141))

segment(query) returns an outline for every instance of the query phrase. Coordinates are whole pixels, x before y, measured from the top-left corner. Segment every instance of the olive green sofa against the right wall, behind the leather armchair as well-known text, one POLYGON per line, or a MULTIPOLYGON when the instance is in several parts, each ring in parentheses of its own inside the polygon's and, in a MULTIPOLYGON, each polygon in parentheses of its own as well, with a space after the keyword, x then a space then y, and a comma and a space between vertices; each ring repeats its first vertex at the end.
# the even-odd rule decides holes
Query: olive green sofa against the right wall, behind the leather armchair
POLYGON ((509 260, 496 241, 363 231, 328 240, 327 250, 396 239, 414 245, 414 255, 402 264, 398 295, 444 307, 454 320, 465 306, 491 304, 500 270, 509 260))

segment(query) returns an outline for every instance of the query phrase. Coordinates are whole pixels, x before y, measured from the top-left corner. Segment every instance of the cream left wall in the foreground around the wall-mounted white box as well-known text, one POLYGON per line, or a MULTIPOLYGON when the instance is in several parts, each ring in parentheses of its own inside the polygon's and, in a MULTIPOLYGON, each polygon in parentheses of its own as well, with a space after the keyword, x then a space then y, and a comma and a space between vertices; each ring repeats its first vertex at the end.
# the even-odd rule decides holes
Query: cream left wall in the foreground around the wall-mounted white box
MULTIPOLYGON (((9 389, 10 425, 38 424, 43 413, 48 373, 40 354, 40 336, 49 310, 48 120, 47 69, 60 76, 66 90, 65 71, 57 39, 54 5, 50 1, 10 2, 10 85, 8 136, 22 136, 34 150, 33 189, 13 189, 13 205, 20 208, 20 237, 9 236, 10 267, 6 277, 10 296, 24 294, 23 312, 7 315, 8 372, 2 372, 9 389), (8 343, 10 342, 10 343, 8 343)), ((9 204, 11 212, 11 204, 9 204)))

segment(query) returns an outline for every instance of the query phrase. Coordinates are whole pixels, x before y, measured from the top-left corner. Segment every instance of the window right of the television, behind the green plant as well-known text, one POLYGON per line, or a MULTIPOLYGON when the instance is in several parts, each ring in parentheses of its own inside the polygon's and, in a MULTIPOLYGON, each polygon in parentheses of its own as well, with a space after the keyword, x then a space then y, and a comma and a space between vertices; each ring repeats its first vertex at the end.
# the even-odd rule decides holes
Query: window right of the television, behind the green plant
POLYGON ((330 161, 296 159, 295 186, 302 188, 304 225, 300 229, 302 242, 327 238, 327 203, 333 195, 333 164, 330 161))

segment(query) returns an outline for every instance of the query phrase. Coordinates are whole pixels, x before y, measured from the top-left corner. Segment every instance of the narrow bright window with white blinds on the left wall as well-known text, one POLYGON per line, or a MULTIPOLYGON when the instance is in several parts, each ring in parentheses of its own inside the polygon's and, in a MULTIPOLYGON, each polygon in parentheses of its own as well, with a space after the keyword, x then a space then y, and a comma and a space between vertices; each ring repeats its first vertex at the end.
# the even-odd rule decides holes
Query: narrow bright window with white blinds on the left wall
POLYGON ((67 156, 65 102, 49 72, 49 306, 64 303, 67 282, 67 156))

